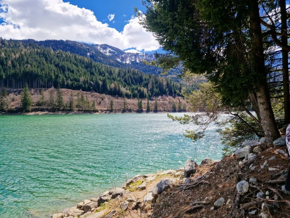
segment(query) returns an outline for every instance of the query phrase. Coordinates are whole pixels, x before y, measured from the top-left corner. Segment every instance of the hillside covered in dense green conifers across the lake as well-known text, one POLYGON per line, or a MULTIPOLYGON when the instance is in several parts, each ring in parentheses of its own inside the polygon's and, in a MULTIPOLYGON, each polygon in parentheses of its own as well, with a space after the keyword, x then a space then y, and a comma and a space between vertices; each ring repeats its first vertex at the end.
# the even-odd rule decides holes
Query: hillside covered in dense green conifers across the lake
POLYGON ((181 85, 132 68, 115 68, 35 43, 0 38, 0 87, 58 87, 125 97, 179 95, 181 85))

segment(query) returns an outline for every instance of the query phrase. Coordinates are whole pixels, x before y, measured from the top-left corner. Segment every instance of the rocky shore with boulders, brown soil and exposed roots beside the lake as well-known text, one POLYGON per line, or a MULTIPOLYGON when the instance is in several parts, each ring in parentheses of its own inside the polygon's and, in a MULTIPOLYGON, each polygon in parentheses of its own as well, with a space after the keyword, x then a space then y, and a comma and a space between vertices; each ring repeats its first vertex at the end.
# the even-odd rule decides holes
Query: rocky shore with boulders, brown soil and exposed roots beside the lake
POLYGON ((221 161, 187 160, 182 169, 137 175, 52 218, 290 217, 287 159, 285 137, 271 147, 264 138, 245 141, 221 161))

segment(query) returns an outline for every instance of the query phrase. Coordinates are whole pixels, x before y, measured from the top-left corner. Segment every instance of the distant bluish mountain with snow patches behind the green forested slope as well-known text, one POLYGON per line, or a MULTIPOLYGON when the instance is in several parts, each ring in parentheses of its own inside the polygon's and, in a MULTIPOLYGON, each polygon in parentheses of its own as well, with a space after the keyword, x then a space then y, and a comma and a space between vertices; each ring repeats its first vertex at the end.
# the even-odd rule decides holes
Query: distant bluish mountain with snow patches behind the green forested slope
MULTIPOLYGON (((62 50, 73 54, 78 54, 83 57, 92 58, 95 62, 106 64, 118 68, 134 68, 146 74, 159 75, 161 68, 143 64, 142 60, 148 62, 155 60, 154 54, 146 53, 126 53, 119 48, 110 45, 86 44, 70 40, 45 40, 35 41, 33 39, 21 40, 24 45, 37 44, 47 48, 52 48, 53 51, 62 50)), ((177 75, 181 74, 182 66, 172 69, 166 76, 173 81, 180 81, 177 75)))

